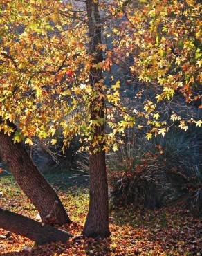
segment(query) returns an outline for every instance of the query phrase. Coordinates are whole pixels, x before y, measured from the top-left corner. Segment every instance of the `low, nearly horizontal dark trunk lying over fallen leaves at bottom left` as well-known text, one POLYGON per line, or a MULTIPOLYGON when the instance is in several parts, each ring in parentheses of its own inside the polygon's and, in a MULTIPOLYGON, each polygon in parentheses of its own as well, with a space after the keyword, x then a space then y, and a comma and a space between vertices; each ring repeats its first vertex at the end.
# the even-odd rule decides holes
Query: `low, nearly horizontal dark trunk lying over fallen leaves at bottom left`
POLYGON ((68 241, 71 234, 51 226, 42 226, 42 223, 28 217, 0 209, 0 228, 28 237, 37 244, 48 244, 53 241, 68 241))

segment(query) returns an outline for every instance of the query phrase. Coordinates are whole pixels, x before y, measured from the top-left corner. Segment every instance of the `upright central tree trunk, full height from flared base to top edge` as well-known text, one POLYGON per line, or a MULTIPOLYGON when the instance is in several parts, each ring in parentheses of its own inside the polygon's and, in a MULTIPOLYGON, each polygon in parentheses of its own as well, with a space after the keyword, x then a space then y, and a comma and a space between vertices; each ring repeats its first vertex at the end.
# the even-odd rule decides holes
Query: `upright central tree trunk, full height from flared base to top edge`
MULTIPOLYGON (((89 20, 90 53, 94 58, 93 64, 98 64, 103 60, 102 51, 98 49, 98 44, 102 44, 98 1, 86 0, 86 8, 89 20)), ((91 68, 89 79, 95 94, 100 91, 99 82, 102 77, 102 69, 91 68)), ((103 120, 103 122, 93 127, 89 158, 91 181, 89 212, 82 234, 89 237, 108 237, 110 235, 109 205, 104 143, 100 142, 93 146, 95 140, 104 136, 104 100, 100 100, 98 94, 91 102, 91 120, 103 120), (96 153, 94 153, 95 149, 96 153)))

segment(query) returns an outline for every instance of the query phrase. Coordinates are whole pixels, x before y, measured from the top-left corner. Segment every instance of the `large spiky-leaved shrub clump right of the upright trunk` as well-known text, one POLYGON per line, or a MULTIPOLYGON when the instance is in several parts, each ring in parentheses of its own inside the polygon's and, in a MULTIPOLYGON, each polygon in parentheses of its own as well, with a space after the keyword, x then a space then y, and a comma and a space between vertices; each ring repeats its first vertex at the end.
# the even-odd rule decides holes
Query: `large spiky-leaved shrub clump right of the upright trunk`
POLYGON ((130 131, 107 157, 111 203, 155 208, 180 202, 201 213, 201 145, 201 132, 192 129, 172 129, 149 142, 130 131))

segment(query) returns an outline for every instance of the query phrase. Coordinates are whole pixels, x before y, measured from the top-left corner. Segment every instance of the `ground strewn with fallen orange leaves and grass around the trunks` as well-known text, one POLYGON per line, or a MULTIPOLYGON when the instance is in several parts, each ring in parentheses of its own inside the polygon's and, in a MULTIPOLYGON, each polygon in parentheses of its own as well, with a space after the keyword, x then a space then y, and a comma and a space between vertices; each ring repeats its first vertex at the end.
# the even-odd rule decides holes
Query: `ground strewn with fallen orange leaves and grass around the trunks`
MULTIPOLYGON (((69 211, 80 235, 88 210, 88 179, 69 173, 45 175, 69 211), (83 184, 86 183, 85 188, 83 184)), ((37 211, 11 175, 0 175, 0 207, 35 219, 37 211)), ((110 212, 109 239, 71 239, 66 244, 37 246, 25 237, 0 229, 0 255, 202 255, 202 221, 177 207, 135 210, 131 205, 110 212), (9 234, 9 235, 8 235, 9 234)))

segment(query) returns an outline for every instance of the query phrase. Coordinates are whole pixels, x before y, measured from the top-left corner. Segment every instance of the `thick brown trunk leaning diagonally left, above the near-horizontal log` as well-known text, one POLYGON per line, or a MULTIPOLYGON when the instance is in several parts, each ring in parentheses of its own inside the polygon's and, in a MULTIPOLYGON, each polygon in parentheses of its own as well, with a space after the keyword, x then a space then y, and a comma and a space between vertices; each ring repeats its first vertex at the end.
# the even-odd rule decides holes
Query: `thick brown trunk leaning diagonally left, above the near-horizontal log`
MULTIPOLYGON (((1 122, 1 120, 0 120, 1 122)), ((16 129, 14 124, 9 124, 16 129)), ((15 179, 39 211, 43 223, 71 223, 62 202, 50 183, 37 170, 22 143, 13 143, 12 136, 0 131, 0 156, 15 179)))

